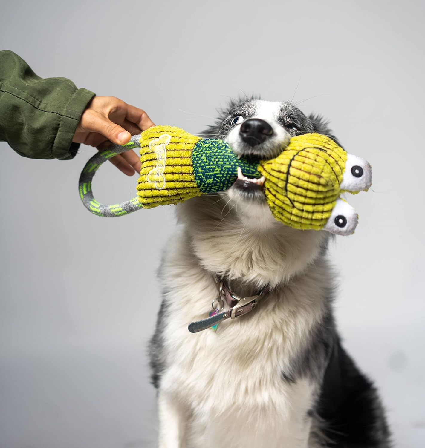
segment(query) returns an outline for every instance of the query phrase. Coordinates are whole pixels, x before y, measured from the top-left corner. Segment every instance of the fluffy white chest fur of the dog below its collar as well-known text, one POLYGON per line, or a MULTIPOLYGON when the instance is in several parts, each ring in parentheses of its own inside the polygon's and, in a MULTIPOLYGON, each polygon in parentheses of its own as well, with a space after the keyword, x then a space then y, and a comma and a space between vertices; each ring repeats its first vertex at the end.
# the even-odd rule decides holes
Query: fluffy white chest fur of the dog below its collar
POLYGON ((160 446, 166 448, 307 447, 314 384, 284 381, 282 371, 321 318, 321 288, 314 267, 240 319, 216 333, 192 334, 187 324, 204 319, 217 289, 187 243, 173 239, 162 267, 167 318, 165 371, 160 383, 160 446), (319 282, 317 284, 317 282, 319 282))

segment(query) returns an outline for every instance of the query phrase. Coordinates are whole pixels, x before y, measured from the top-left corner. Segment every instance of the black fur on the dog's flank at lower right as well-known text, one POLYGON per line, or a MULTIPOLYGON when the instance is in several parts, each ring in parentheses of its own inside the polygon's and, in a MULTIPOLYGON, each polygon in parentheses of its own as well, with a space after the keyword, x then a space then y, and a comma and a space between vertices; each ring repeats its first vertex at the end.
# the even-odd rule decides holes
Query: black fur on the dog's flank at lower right
POLYGON ((331 306, 333 286, 324 293, 328 310, 291 361, 291 370, 281 372, 282 379, 296 383, 309 378, 318 384, 315 412, 308 416, 317 418, 325 435, 322 446, 390 448, 390 431, 376 389, 341 346, 331 306))

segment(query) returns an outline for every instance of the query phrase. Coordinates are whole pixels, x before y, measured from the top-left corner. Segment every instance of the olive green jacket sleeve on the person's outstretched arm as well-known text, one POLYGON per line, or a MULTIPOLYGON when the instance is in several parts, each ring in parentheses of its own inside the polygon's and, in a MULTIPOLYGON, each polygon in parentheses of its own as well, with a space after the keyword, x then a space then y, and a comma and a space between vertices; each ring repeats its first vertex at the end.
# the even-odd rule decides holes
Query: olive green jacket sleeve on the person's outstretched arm
POLYGON ((15 53, 0 51, 0 141, 33 159, 72 159, 75 129, 94 95, 66 78, 40 78, 15 53))

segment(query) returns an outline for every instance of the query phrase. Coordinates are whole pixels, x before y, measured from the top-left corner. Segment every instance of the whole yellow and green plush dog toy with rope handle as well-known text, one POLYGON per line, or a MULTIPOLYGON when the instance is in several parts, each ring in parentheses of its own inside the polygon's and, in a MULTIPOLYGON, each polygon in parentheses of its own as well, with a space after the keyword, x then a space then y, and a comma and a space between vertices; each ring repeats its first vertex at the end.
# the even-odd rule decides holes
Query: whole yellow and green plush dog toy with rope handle
POLYGON ((276 158, 258 162, 238 159, 223 140, 199 138, 173 126, 154 126, 126 145, 113 145, 94 155, 81 173, 79 192, 92 213, 113 217, 224 191, 244 176, 264 184, 265 198, 277 220, 293 228, 325 229, 339 235, 353 233, 358 221, 354 208, 339 195, 368 190, 372 182, 369 163, 347 154, 325 135, 293 137, 276 158), (114 205, 97 202, 91 190, 96 170, 114 155, 137 147, 142 163, 137 196, 114 205))

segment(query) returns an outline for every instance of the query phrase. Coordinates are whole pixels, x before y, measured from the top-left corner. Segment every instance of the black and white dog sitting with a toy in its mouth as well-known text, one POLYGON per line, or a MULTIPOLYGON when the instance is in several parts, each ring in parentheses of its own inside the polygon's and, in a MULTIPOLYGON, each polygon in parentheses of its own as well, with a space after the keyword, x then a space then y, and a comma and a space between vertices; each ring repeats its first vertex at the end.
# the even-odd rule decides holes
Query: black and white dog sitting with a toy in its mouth
MULTIPOLYGON (((334 138, 319 116, 291 103, 247 99, 200 136, 263 159, 308 132, 334 138)), ((390 447, 377 392, 334 323, 330 234, 281 224, 261 182, 239 180, 178 206, 180 228, 160 267, 151 340, 160 448, 390 447), (217 279, 239 297, 269 293, 217 332, 192 334, 187 325, 208 317, 217 279)))

